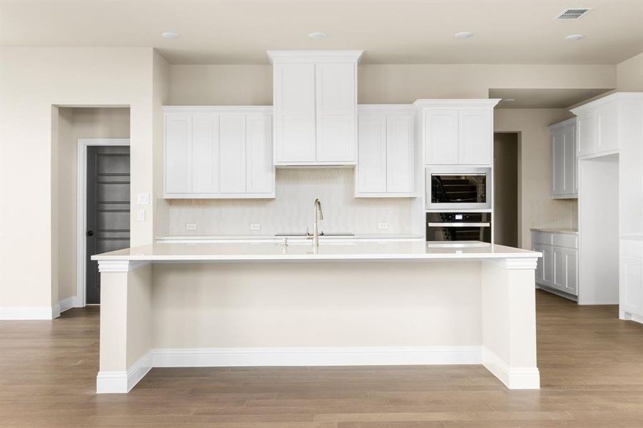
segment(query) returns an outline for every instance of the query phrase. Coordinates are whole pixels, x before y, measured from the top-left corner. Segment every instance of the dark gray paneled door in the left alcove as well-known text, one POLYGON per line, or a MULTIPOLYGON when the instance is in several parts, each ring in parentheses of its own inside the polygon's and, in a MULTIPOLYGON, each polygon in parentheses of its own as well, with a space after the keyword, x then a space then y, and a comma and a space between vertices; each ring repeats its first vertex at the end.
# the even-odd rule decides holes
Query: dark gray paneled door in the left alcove
POLYGON ((91 255, 129 247, 129 147, 87 148, 86 302, 101 302, 101 276, 91 255))

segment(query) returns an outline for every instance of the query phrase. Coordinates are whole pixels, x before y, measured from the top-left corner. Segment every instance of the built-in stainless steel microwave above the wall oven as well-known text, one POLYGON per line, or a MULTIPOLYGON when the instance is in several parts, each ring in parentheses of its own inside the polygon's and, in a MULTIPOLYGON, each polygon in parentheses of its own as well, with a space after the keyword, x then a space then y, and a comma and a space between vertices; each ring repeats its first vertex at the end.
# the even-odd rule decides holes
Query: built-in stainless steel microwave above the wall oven
POLYGON ((427 210, 491 209, 491 168, 426 168, 427 210))

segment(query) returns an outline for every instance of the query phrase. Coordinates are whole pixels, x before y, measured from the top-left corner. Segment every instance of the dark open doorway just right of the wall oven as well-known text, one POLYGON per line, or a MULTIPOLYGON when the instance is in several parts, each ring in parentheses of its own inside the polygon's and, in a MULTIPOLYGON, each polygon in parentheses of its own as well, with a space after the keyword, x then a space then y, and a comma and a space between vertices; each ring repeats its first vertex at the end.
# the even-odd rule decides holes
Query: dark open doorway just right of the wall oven
POLYGON ((493 134, 494 243, 518 247, 518 133, 493 134))

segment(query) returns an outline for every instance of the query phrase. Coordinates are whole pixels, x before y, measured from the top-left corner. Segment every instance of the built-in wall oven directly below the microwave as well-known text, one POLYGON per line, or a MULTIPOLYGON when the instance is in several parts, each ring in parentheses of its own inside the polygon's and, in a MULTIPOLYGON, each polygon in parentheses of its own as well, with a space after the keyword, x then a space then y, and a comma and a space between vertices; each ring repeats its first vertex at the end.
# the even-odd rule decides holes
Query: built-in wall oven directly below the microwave
POLYGON ((427 241, 491 243, 491 213, 427 213, 427 241))

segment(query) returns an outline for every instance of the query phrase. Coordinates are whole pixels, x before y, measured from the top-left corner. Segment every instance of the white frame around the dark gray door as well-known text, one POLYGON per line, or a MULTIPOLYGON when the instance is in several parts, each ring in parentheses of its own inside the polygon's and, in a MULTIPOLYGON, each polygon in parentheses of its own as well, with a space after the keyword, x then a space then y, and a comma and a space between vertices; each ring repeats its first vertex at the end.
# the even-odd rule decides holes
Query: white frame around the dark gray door
POLYGON ((85 263, 87 245, 87 148, 89 146, 129 146, 129 138, 79 138, 76 161, 76 302, 87 305, 85 263))

